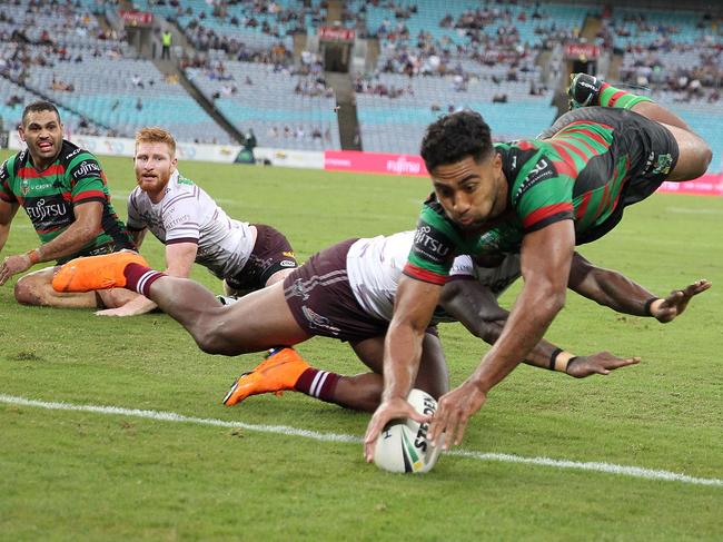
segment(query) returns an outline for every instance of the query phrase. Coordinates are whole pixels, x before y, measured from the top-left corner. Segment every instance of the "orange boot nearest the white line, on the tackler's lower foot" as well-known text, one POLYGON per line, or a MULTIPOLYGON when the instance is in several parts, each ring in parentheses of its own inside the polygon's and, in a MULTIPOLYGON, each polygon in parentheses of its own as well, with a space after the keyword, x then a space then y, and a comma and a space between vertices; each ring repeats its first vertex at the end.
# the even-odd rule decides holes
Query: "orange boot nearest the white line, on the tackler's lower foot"
POLYGON ((266 359, 238 377, 224 397, 224 404, 234 406, 249 395, 280 395, 285 390, 294 390, 299 376, 307 368, 309 364, 294 348, 273 348, 266 359))

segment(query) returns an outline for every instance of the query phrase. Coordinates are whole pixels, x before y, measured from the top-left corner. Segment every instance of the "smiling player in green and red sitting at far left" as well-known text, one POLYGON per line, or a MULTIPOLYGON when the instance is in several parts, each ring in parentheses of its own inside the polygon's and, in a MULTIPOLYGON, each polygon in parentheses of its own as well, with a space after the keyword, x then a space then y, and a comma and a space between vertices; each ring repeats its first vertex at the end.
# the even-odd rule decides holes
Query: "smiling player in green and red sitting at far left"
MULTIPOLYGON (((8 256, 0 265, 0 285, 41 262, 62 264, 89 256, 135 248, 130 234, 110 204, 110 193, 93 155, 62 138, 56 106, 38 101, 26 107, 18 128, 27 149, 0 167, 0 249, 20 206, 40 237, 40 247, 8 256)), ((60 294, 52 289, 53 267, 21 277, 16 299, 28 305, 96 307, 95 293, 60 294)), ((105 306, 135 297, 118 289, 99 294, 105 306)))

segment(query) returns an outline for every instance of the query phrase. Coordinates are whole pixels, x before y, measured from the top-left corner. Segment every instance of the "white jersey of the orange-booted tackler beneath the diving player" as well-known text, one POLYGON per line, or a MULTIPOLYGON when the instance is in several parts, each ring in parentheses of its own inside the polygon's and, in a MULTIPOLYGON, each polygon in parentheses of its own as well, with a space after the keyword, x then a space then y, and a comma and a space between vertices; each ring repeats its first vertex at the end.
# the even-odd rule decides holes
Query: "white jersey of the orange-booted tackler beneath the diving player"
MULTIPOLYGON (((367 314, 392 321, 394 297, 402 269, 407 263, 415 231, 359 239, 349 247, 346 270, 354 296, 367 314)), ((507 256, 502 265, 478 267, 469 256, 455 258, 449 279, 476 278, 495 295, 519 277, 519 256, 507 256)))

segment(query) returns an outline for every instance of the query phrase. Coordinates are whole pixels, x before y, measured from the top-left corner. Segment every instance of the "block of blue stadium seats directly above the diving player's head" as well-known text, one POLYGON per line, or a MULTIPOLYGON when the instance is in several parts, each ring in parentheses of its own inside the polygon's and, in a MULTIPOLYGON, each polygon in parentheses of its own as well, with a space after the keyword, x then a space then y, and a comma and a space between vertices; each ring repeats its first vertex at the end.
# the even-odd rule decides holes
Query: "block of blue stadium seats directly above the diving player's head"
POLYGON ((537 51, 551 29, 580 29, 586 8, 545 4, 531 11, 529 6, 481 7, 474 1, 440 7, 432 0, 414 4, 413 11, 406 3, 365 7, 367 28, 382 47, 375 76, 357 83, 365 150, 416 154, 426 126, 459 108, 482 112, 498 139, 534 137, 549 126, 556 109, 553 89, 535 66, 537 51), (397 9, 406 10, 405 17, 397 18, 397 9), (466 24, 466 16, 486 23, 454 28, 466 24), (443 18, 449 24, 440 24, 443 18), (402 26, 408 37, 398 31, 402 26))

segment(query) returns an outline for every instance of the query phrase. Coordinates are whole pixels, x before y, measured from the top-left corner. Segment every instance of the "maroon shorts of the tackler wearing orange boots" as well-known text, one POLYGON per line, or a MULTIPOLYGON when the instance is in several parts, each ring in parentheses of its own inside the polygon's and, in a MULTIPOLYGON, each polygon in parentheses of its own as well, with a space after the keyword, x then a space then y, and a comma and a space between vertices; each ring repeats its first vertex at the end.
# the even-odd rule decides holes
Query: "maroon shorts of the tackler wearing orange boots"
POLYGON ((346 255, 356 240, 315 254, 284 279, 286 303, 309 335, 354 343, 387 333, 389 323, 365 313, 349 286, 346 255))

